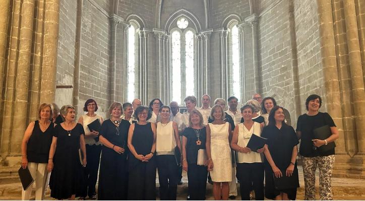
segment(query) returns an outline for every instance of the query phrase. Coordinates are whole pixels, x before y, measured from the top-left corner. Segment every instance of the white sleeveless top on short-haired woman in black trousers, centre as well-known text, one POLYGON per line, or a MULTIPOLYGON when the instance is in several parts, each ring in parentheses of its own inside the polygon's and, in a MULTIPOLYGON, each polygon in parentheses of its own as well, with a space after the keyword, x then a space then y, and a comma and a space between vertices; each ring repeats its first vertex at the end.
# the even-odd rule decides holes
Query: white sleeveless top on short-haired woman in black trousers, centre
POLYGON ((156 155, 173 155, 176 147, 172 121, 167 124, 157 123, 156 129, 156 155))

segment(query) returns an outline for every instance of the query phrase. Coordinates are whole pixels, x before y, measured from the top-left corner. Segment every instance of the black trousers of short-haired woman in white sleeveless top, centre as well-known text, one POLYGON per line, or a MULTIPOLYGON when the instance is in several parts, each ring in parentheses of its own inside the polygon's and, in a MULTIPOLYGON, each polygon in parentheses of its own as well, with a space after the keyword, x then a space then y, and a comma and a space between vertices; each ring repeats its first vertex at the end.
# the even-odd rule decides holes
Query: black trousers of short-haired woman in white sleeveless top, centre
POLYGON ((176 200, 177 164, 174 155, 156 156, 160 200, 176 200))

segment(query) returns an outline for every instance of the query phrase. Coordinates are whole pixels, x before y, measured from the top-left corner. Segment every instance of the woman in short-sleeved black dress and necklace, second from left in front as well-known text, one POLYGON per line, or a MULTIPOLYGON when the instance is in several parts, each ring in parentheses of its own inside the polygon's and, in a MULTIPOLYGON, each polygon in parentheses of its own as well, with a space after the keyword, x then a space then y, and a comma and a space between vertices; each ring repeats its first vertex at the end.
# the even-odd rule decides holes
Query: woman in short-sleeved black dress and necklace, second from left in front
POLYGON ((84 128, 75 122, 75 108, 70 105, 61 108, 64 122, 54 127, 48 156, 48 171, 52 171, 49 187, 51 197, 74 199, 83 193, 85 179, 82 166, 86 166, 84 128), (83 154, 82 161, 79 149, 83 154), (53 169, 53 170, 52 170, 53 169))

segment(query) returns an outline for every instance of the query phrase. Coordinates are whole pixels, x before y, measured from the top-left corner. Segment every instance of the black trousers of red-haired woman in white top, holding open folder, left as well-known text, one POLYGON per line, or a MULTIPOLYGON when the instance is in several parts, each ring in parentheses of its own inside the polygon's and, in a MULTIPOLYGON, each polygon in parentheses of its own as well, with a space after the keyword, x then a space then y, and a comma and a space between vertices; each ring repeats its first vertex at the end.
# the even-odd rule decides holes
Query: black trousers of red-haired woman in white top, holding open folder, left
POLYGON ((86 197, 86 195, 91 197, 96 194, 95 184, 98 179, 101 147, 101 145, 86 144, 86 182, 82 193, 83 197, 86 197))

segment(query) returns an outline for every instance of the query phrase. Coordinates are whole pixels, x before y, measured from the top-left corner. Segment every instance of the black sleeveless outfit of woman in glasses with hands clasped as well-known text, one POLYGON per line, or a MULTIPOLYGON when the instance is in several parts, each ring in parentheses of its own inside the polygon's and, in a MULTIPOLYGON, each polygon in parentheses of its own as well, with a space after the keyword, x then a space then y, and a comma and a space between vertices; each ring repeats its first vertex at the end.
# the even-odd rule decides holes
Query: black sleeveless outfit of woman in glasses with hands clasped
MULTIPOLYGON (((135 124, 132 144, 137 154, 147 155, 153 145, 153 131, 151 123, 146 125, 135 124)), ((129 200, 155 200, 156 199, 156 164, 155 156, 148 162, 142 162, 129 155, 129 200)))

